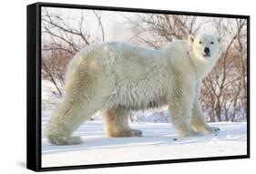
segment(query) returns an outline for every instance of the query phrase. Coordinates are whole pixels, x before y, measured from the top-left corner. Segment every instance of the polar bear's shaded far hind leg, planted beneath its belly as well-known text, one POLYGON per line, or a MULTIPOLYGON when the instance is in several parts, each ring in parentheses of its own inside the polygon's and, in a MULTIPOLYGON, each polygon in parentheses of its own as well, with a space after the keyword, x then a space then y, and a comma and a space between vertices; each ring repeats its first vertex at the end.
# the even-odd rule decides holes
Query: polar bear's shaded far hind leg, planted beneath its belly
POLYGON ((128 126, 129 110, 123 107, 104 111, 104 125, 108 137, 141 137, 142 131, 128 126))

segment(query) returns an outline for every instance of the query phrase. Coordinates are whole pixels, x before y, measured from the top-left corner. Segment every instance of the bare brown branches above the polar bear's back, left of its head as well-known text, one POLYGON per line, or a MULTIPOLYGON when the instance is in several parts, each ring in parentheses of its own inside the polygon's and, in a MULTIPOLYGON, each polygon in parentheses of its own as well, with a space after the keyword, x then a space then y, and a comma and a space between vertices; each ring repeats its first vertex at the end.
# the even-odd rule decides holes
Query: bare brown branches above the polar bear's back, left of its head
POLYGON ((138 20, 128 19, 138 35, 140 42, 161 48, 174 39, 187 39, 187 36, 196 34, 202 21, 196 16, 188 15, 138 15, 138 20))

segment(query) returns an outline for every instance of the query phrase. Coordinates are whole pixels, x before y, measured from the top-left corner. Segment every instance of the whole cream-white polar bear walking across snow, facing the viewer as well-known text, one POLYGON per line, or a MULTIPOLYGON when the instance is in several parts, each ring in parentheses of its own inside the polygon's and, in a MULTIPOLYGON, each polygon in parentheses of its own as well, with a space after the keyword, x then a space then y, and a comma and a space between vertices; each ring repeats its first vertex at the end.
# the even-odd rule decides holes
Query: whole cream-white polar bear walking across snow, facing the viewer
POLYGON ((130 110, 169 106, 180 136, 217 133, 204 120, 200 85, 220 57, 220 38, 189 36, 160 50, 111 42, 87 46, 67 67, 64 95, 46 127, 52 144, 82 143, 72 133, 97 110, 108 137, 140 137, 130 110))

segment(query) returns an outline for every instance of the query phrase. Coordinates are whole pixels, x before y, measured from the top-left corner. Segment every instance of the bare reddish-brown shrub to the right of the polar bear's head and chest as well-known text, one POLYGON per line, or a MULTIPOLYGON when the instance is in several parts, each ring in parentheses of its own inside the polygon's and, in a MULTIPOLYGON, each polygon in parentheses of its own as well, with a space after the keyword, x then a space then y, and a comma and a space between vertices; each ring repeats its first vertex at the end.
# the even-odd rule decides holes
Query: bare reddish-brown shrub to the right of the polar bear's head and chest
MULTIPOLYGON (((215 121, 215 117, 219 121, 234 121, 240 107, 241 95, 247 93, 243 91, 244 87, 241 87, 241 80, 247 78, 246 71, 242 71, 246 65, 240 63, 245 53, 237 48, 243 29, 246 28, 246 20, 239 20, 238 24, 237 20, 227 21, 220 18, 214 23, 219 35, 225 36, 226 47, 216 67, 203 81, 201 101, 206 109, 210 109, 211 121, 215 121), (243 74, 239 73, 240 71, 243 74)), ((245 45, 246 41, 239 46, 245 45)))

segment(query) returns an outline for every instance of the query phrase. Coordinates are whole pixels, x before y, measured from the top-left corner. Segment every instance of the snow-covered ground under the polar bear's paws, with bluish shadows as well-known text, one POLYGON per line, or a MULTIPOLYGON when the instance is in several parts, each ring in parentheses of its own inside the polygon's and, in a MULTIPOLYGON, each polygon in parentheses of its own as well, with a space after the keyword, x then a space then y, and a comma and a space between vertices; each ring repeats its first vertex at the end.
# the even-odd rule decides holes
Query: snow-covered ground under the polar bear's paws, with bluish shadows
MULTIPOLYGON (((47 114, 42 118, 43 128, 48 118, 47 114)), ((169 123, 130 125, 142 130, 143 137, 106 138, 101 121, 88 121, 75 132, 75 136, 84 140, 81 145, 54 146, 43 138, 42 167, 234 156, 245 155, 247 151, 246 122, 212 123, 220 128, 218 136, 193 138, 178 138, 169 123)))

